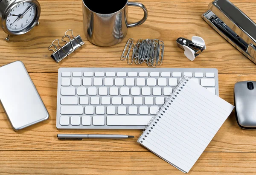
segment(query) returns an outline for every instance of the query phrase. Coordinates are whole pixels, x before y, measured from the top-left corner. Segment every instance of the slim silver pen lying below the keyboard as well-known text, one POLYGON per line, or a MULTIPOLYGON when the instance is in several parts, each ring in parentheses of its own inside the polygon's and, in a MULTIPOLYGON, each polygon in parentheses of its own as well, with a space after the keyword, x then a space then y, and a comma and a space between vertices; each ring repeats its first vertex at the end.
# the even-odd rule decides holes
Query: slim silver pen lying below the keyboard
POLYGON ((83 139, 125 139, 134 138, 131 135, 108 135, 108 134, 58 134, 60 140, 83 140, 83 139))

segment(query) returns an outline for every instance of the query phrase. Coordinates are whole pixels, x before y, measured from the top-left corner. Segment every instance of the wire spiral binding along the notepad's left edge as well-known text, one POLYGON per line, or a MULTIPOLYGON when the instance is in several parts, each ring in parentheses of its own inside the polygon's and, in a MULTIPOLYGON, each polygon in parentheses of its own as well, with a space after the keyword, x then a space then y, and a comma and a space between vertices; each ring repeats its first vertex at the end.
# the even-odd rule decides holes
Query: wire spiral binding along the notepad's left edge
POLYGON ((182 79, 180 79, 180 83, 176 86, 176 88, 174 88, 174 90, 172 91, 172 94, 166 99, 166 102, 169 102, 170 99, 171 99, 171 101, 169 103, 165 102, 160 107, 160 109, 157 111, 156 115, 154 117, 152 117, 152 119, 148 122, 145 129, 142 131, 142 134, 140 135, 140 138, 139 138, 139 141, 141 143, 143 143, 143 140, 145 140, 145 138, 147 138, 147 135, 149 135, 151 130, 154 129, 157 122, 160 121, 161 117, 163 116, 163 113, 166 112, 167 108, 169 108, 169 105, 172 104, 173 100, 175 100, 177 95, 181 92, 181 90, 187 84, 188 81, 189 81, 189 79, 187 79, 186 76, 184 76, 182 79), (157 119, 157 117, 158 117, 158 119, 157 119))

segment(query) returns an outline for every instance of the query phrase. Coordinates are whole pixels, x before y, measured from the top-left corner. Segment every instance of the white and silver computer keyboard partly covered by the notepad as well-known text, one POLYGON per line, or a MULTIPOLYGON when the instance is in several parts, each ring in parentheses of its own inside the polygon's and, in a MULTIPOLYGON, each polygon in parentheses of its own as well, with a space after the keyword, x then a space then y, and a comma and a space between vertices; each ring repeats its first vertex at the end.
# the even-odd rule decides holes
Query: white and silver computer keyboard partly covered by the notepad
POLYGON ((184 76, 218 95, 214 68, 60 68, 58 129, 144 129, 184 76))

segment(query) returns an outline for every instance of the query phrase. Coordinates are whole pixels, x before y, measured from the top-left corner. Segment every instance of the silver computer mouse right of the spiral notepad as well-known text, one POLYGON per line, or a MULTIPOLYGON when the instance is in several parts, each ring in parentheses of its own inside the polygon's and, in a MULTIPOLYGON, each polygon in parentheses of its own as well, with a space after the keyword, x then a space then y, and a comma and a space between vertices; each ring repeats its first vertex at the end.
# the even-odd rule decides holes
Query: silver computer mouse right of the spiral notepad
POLYGON ((236 121, 243 129, 256 129, 256 82, 237 82, 234 88, 236 121))

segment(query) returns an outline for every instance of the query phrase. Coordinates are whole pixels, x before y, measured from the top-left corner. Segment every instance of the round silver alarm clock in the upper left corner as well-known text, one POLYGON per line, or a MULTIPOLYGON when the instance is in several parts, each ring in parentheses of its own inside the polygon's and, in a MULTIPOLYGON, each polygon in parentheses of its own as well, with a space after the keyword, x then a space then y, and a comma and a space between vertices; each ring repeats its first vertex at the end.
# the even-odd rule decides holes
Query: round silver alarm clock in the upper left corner
POLYGON ((0 0, 0 23, 8 37, 21 35, 39 25, 41 13, 37 0, 0 0))

